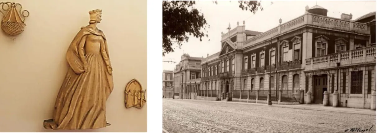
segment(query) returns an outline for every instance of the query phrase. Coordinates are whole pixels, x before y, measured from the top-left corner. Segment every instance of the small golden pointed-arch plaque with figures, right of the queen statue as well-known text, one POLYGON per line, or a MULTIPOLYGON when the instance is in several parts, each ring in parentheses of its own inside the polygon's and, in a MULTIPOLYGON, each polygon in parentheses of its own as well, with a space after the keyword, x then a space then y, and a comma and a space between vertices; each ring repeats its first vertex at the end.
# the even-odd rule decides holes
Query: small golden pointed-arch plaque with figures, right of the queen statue
POLYGON ((136 107, 138 109, 143 108, 147 100, 145 99, 145 93, 143 87, 137 79, 132 79, 127 83, 126 90, 124 91, 124 102, 126 108, 136 107))

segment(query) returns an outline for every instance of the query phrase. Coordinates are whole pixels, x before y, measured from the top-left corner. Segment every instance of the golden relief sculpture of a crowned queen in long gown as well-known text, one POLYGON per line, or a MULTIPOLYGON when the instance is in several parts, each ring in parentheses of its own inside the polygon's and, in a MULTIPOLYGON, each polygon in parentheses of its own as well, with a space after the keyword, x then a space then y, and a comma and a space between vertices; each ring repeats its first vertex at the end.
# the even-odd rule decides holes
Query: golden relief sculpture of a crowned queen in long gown
POLYGON ((69 70, 59 90, 52 119, 46 129, 78 130, 110 126, 106 100, 113 90, 112 67, 106 37, 97 24, 102 10, 89 11, 90 21, 74 37, 66 59, 69 70))

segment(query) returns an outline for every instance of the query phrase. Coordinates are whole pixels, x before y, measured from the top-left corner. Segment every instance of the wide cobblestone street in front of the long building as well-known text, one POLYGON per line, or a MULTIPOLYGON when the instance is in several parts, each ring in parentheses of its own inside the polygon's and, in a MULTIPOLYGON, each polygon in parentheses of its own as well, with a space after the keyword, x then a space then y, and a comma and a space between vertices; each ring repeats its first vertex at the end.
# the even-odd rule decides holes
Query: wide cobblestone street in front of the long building
POLYGON ((371 115, 181 99, 163 99, 162 117, 168 133, 340 133, 371 126, 375 132, 376 120, 371 115))

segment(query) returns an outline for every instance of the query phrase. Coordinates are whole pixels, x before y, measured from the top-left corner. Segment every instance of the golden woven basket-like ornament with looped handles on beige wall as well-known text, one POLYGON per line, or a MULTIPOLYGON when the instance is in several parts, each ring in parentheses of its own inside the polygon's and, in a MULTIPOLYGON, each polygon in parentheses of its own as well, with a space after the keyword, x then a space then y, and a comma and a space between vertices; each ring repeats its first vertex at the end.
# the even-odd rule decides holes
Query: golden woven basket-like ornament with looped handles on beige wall
POLYGON ((0 2, 1 9, 0 13, 3 14, 3 19, 1 21, 2 30, 11 36, 21 34, 25 28, 25 18, 29 16, 28 10, 22 10, 22 6, 19 3, 11 2, 0 2), (17 10, 16 7, 20 6, 20 10, 17 10), (27 12, 27 15, 25 15, 27 12))

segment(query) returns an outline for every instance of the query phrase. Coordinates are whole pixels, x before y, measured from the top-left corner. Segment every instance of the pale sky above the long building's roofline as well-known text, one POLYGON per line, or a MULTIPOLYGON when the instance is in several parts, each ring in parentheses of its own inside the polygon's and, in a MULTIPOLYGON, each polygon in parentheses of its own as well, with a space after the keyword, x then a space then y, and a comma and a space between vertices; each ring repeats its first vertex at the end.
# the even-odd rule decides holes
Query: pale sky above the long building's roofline
POLYGON ((313 7, 316 3, 328 10, 327 16, 340 18, 342 13, 352 13, 352 20, 376 11, 375 1, 262 1, 264 10, 258 10, 255 14, 250 11, 243 11, 239 8, 237 1, 218 1, 216 5, 212 1, 196 1, 197 9, 201 9, 207 23, 210 25, 208 36, 201 42, 195 37, 190 37, 189 42, 184 42, 181 49, 173 45, 174 52, 162 57, 164 61, 175 61, 176 63, 162 62, 162 69, 174 70, 176 64, 181 60, 183 53, 191 57, 207 57, 219 52, 221 49, 221 31, 227 33, 227 27, 233 29, 237 21, 242 25, 245 20, 246 30, 265 32, 282 23, 290 21, 305 13, 305 6, 313 7), (208 41, 210 39, 210 41, 208 41))

